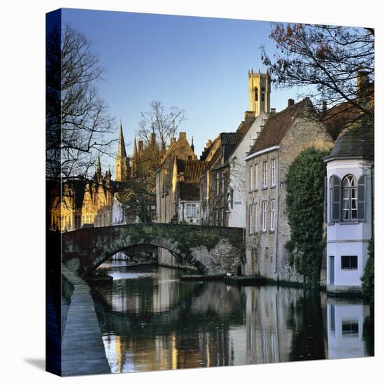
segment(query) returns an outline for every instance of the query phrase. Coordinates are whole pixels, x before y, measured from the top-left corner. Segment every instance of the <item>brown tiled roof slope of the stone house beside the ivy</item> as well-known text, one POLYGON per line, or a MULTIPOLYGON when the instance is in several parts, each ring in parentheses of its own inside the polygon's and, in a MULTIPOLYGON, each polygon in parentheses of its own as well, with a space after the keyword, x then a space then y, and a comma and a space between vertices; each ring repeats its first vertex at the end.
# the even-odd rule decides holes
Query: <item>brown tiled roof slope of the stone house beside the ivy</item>
POLYGON ((271 114, 262 132, 260 132, 257 141, 250 149, 249 155, 257 153, 257 151, 262 151, 265 148, 278 146, 292 126, 294 120, 308 113, 316 113, 316 111, 311 100, 306 97, 301 100, 301 102, 289 106, 283 111, 271 114))

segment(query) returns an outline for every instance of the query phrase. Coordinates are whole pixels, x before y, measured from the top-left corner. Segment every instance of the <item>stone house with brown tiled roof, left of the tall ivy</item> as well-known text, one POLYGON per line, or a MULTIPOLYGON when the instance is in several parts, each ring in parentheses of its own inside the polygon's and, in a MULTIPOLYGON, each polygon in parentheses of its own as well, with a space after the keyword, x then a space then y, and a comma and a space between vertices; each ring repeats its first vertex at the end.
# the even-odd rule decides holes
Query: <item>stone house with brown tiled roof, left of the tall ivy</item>
MULTIPOLYGON (((285 178, 305 148, 330 149, 332 137, 306 98, 272 113, 246 160, 246 263, 243 274, 302 282, 290 265, 285 178)), ((323 274, 325 280, 325 274, 323 274)))

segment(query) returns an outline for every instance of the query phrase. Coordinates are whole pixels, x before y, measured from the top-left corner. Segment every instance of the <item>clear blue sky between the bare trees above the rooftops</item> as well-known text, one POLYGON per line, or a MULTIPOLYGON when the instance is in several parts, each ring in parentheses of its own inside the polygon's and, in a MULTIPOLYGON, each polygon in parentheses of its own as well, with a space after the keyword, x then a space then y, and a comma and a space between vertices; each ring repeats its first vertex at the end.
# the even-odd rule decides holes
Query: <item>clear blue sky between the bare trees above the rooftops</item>
MULTIPOLYGON (((63 9, 62 22, 93 41, 106 69, 99 94, 122 120, 128 153, 152 100, 186 111, 180 131, 194 137, 198 156, 208 139, 235 131, 248 110, 248 69, 265 70, 260 45, 276 50, 269 22, 76 9, 63 9)), ((271 107, 296 94, 273 88, 271 107)), ((102 164, 114 172, 113 159, 102 164)))

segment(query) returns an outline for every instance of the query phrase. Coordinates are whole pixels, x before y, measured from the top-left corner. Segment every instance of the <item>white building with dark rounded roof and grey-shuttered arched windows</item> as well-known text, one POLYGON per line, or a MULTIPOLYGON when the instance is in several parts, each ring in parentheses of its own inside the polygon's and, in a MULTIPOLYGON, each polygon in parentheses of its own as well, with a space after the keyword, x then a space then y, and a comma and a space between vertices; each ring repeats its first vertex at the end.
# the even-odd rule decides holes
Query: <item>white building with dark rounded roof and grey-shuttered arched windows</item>
POLYGON ((360 292, 372 237, 373 128, 362 125, 336 141, 327 163, 327 291, 360 292))

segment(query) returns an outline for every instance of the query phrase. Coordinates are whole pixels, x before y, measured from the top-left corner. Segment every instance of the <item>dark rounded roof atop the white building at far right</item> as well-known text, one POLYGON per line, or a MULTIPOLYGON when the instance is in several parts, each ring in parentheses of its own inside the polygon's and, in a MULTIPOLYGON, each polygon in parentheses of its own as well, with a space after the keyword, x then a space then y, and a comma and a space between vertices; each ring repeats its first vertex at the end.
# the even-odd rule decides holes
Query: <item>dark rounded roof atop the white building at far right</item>
POLYGON ((374 125, 361 123, 357 127, 346 130, 339 139, 327 157, 326 162, 334 159, 355 159, 364 158, 374 159, 374 125))

